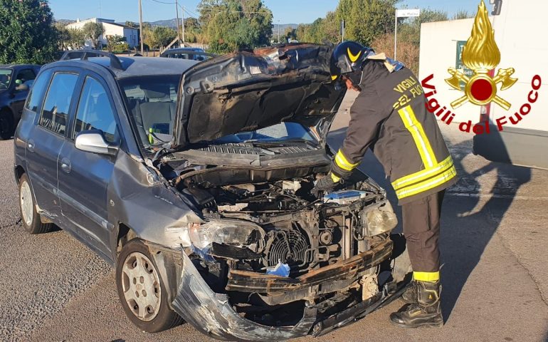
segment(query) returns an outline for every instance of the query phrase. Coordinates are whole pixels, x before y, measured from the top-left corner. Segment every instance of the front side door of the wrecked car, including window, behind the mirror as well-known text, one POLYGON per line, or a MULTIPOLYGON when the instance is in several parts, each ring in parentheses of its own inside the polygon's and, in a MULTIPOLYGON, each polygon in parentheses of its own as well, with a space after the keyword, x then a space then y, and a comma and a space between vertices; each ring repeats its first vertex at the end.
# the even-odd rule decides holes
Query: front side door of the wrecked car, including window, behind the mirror
POLYGON ((87 130, 101 130, 107 142, 117 144, 117 113, 108 87, 100 76, 87 73, 83 79, 73 130, 58 158, 58 195, 61 212, 85 242, 110 258, 110 232, 107 220, 107 189, 115 157, 84 152, 75 147, 75 137, 87 130))

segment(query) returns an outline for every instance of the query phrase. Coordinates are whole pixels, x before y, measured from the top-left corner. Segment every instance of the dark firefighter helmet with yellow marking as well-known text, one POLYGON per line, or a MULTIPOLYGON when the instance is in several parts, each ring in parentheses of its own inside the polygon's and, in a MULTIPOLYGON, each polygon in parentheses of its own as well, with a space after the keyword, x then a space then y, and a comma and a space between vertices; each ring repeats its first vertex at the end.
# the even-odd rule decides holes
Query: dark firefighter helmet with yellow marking
POLYGON ((345 73, 361 70, 370 52, 373 52, 372 48, 362 46, 355 41, 344 41, 337 45, 331 56, 331 79, 335 81, 345 73))

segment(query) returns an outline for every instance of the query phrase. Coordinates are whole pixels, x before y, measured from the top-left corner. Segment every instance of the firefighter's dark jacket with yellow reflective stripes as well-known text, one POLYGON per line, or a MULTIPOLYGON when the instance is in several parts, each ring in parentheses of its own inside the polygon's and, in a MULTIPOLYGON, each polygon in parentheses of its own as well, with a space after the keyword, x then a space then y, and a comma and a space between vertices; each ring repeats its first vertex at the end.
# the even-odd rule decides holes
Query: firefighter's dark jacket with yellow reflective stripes
POLYGON ((365 64, 359 86, 347 136, 332 163, 334 180, 352 172, 371 147, 400 205, 453 185, 453 160, 416 76, 377 58, 365 64))

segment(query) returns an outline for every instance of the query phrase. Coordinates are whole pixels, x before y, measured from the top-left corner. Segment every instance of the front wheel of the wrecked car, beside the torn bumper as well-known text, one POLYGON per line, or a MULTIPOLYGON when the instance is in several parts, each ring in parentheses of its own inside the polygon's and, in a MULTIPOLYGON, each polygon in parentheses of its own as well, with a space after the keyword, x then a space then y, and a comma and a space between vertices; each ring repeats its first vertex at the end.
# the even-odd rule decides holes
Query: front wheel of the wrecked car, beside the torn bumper
POLYGON ((165 284, 142 240, 132 239, 122 248, 116 264, 116 289, 125 314, 142 331, 157 333, 183 322, 169 308, 165 284))

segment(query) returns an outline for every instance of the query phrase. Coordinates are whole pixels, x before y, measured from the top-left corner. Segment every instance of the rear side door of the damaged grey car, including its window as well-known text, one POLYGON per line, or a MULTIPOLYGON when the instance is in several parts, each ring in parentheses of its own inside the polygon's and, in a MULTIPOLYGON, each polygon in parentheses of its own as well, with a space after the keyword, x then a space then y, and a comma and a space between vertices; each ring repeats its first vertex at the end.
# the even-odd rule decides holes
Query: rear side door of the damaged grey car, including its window
POLYGON ((60 215, 57 196, 58 156, 65 142, 68 113, 76 102, 73 93, 77 82, 77 71, 55 71, 34 124, 31 128, 25 128, 28 137, 25 142, 26 167, 36 203, 56 223, 60 215))

